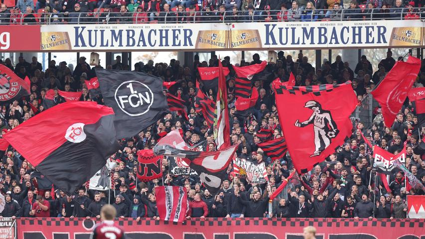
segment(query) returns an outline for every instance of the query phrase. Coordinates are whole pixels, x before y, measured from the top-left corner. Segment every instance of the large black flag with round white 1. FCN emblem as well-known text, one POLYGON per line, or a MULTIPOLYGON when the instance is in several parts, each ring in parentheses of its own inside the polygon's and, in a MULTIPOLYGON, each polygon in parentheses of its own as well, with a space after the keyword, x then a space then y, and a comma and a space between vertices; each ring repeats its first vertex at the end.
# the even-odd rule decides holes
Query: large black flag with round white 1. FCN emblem
POLYGON ((168 111, 161 78, 134 71, 96 69, 105 105, 115 112, 117 138, 146 129, 168 111))

